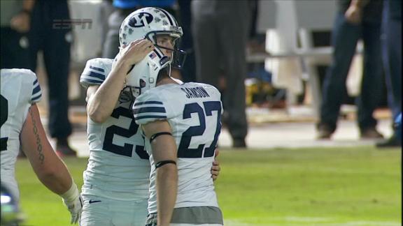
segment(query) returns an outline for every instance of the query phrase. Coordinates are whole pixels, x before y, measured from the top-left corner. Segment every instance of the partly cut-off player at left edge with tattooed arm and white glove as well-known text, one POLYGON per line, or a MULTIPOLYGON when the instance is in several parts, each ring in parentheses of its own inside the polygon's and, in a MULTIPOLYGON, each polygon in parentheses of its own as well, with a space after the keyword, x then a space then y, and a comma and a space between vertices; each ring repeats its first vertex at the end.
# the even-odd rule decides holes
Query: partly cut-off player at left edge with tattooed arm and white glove
POLYGON ((77 223, 81 213, 80 193, 63 161, 45 135, 36 103, 41 86, 27 69, 1 69, 1 184, 18 202, 15 161, 22 149, 38 179, 60 195, 77 223))

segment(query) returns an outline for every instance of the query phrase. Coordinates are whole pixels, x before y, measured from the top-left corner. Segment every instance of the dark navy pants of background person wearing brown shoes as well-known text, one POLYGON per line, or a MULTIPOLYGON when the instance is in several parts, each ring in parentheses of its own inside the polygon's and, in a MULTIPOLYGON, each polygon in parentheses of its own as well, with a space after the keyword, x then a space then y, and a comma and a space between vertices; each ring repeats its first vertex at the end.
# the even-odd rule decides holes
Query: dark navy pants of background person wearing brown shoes
POLYGON ((346 79, 355 47, 359 39, 364 43, 364 66, 360 96, 357 98, 358 126, 360 130, 376 126, 372 115, 381 101, 383 77, 381 67, 381 23, 346 21, 338 13, 332 32, 333 59, 323 84, 323 103, 320 107, 320 124, 336 130, 341 103, 346 96, 346 79))

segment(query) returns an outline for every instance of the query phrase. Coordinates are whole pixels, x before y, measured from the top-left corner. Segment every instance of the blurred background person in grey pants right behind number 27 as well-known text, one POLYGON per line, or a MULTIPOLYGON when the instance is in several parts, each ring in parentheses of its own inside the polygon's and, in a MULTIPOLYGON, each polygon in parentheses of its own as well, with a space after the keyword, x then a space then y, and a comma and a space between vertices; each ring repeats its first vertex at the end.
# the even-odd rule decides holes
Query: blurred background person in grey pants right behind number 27
POLYGON ((248 1, 192 1, 192 35, 197 82, 219 87, 223 64, 226 89, 221 91, 223 123, 232 146, 246 147, 246 44, 250 26, 248 1))

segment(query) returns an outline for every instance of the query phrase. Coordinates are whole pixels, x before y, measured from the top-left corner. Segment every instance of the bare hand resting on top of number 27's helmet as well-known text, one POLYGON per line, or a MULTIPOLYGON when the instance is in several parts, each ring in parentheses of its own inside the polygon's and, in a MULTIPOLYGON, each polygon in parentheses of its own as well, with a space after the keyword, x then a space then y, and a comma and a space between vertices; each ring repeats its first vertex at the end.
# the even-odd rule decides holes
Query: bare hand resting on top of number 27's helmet
POLYGON ((129 45, 122 46, 121 57, 122 61, 133 65, 139 63, 144 57, 154 50, 153 43, 148 39, 138 39, 129 43, 129 45))

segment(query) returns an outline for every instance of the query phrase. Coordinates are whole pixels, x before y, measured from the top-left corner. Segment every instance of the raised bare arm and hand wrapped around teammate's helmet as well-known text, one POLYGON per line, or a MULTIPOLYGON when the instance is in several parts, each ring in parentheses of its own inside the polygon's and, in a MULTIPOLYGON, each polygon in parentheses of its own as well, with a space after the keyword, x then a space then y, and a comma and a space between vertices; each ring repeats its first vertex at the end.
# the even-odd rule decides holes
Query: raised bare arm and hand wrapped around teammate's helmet
POLYGON ((106 80, 100 86, 90 86, 87 89, 87 114, 92 121, 102 123, 111 116, 130 68, 152 50, 154 46, 149 40, 135 40, 122 49, 122 57, 106 80))

